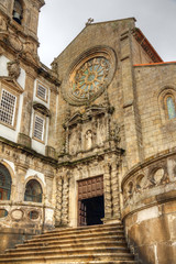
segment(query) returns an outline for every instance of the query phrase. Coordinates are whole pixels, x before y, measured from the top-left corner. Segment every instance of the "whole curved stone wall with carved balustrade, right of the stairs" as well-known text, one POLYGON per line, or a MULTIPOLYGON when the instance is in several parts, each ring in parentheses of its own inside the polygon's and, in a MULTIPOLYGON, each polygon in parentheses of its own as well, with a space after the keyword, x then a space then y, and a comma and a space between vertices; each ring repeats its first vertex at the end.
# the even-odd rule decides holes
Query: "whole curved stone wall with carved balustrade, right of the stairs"
POLYGON ((176 153, 161 153, 122 180, 125 234, 143 264, 176 263, 176 153))

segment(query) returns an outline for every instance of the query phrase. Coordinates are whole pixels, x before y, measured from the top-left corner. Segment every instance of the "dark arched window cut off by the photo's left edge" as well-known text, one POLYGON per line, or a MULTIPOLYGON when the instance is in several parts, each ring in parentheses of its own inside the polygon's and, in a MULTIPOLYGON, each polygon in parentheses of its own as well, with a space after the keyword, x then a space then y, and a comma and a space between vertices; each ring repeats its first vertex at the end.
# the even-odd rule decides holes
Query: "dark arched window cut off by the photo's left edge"
POLYGON ((8 168, 0 164, 0 200, 10 200, 11 176, 8 168))

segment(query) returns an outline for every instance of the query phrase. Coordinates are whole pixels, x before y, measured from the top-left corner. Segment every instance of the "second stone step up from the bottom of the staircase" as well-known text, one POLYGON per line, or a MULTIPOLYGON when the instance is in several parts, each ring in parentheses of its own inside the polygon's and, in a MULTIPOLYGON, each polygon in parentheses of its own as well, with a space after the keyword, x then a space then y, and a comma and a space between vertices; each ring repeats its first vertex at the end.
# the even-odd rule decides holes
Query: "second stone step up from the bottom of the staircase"
POLYGON ((33 251, 33 250, 29 250, 29 251, 24 251, 24 252, 19 252, 19 251, 13 251, 13 252, 9 252, 8 255, 0 255, 0 258, 8 258, 8 257, 19 257, 19 256, 35 256, 35 254, 37 255, 45 255, 45 256, 52 256, 52 255, 82 255, 82 254, 99 254, 99 253, 130 253, 128 248, 121 248, 121 246, 113 246, 113 248, 100 248, 100 249, 95 249, 95 248, 87 248, 87 246, 82 246, 79 249, 52 249, 52 250, 47 250, 47 249, 40 249, 38 251, 33 251))

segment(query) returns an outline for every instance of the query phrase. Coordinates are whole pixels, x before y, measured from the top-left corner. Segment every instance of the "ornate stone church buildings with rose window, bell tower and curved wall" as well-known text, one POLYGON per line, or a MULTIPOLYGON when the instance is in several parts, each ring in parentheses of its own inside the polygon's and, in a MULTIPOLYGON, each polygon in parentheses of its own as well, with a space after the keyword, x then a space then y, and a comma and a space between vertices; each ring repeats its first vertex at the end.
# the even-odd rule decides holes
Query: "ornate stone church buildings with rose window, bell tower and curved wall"
POLYGON ((123 222, 143 263, 176 262, 176 62, 133 18, 37 56, 43 0, 0 0, 1 252, 54 227, 123 222))

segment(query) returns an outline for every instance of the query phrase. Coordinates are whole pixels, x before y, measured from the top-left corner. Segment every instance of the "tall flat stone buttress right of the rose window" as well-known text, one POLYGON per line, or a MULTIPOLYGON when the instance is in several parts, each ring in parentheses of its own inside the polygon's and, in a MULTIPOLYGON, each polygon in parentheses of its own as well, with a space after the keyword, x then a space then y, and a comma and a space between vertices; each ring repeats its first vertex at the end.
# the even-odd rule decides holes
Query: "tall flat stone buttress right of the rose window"
POLYGON ((143 158, 141 120, 136 103, 135 79, 132 57, 132 24, 120 37, 121 85, 123 89, 123 114, 125 155, 129 168, 143 158))

